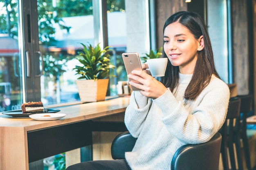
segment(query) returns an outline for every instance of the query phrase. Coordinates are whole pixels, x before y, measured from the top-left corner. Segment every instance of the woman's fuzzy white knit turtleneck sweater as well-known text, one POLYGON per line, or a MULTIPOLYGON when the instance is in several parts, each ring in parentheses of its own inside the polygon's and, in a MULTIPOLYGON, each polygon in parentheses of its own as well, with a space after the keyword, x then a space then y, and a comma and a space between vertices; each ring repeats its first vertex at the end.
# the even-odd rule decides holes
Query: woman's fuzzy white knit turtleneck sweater
POLYGON ((126 160, 132 170, 170 170, 174 152, 184 144, 209 141, 225 121, 229 88, 214 75, 194 100, 184 99, 192 75, 180 74, 175 94, 168 90, 157 99, 133 91, 125 124, 137 142, 126 160))

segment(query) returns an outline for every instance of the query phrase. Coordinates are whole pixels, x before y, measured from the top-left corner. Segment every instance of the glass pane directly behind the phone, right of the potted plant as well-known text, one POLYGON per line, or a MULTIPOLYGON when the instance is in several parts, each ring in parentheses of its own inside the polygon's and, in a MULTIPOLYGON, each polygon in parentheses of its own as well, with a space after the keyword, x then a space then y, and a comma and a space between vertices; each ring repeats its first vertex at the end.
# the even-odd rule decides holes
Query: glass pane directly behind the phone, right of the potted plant
POLYGON ((121 54, 137 52, 142 57, 149 51, 149 26, 145 0, 113 0, 108 5, 108 44, 114 53, 112 62, 116 66, 110 78, 110 95, 117 95, 119 81, 127 81, 121 54))

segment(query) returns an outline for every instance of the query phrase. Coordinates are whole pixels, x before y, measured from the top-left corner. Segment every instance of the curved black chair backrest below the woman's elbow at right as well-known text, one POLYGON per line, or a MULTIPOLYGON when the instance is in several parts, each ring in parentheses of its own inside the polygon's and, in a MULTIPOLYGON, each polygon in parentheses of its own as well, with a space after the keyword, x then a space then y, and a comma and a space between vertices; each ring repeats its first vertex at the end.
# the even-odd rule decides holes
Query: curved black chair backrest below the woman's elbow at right
POLYGON ((221 135, 217 132, 203 144, 181 146, 171 161, 171 170, 218 170, 221 135))

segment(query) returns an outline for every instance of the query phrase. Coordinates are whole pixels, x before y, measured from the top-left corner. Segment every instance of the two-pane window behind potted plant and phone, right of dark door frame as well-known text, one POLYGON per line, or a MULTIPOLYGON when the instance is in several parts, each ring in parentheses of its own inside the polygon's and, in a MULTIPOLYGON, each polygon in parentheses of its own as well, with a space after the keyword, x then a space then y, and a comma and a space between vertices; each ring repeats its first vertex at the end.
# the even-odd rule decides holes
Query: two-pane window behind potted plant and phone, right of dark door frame
MULTIPOLYGON (((108 95, 117 95, 117 82, 126 81, 127 75, 121 53, 136 51, 144 55, 149 51, 148 7, 146 0, 107 0, 106 13, 108 36, 101 35, 100 1, 42 1, 38 0, 38 27, 40 51, 44 60, 44 75, 41 76, 41 100, 44 105, 74 102, 79 100, 75 80, 78 76, 72 68, 81 44, 111 46, 112 64, 116 77, 110 79, 108 95), (72 7, 72 8, 70 8, 72 7), (74 8, 76 7, 76 8, 74 8), (97 13, 98 12, 98 13, 97 13), (54 23, 53 20, 57 20, 54 23), (51 23, 51 24, 47 24, 51 23), (49 30, 49 31, 46 31, 49 30), (46 35, 45 33, 48 33, 46 35), (96 33, 96 34, 95 34, 96 33), (101 37, 98 37, 101 36, 101 37)), ((105 21, 106 22, 106 21, 105 21)))

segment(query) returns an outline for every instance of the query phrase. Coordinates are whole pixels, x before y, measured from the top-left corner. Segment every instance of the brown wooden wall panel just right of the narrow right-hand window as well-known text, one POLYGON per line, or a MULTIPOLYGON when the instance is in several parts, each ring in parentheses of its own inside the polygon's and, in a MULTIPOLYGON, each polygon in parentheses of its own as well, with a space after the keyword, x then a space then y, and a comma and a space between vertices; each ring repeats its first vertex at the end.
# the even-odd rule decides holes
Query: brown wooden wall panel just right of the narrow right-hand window
POLYGON ((232 0, 232 42, 234 83, 238 95, 249 93, 249 46, 247 2, 232 0))

